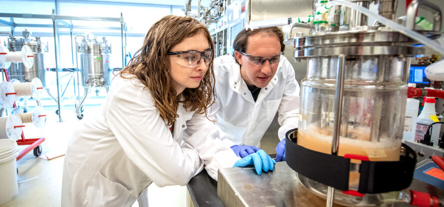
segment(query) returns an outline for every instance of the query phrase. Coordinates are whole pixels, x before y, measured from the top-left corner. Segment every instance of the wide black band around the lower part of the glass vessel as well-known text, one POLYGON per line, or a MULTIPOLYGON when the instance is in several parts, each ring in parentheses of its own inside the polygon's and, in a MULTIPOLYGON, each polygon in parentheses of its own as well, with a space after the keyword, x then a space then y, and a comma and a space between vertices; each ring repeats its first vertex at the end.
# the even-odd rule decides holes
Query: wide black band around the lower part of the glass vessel
MULTIPOLYGON (((309 150, 297 143, 297 128, 286 134, 286 162, 297 173, 341 191, 349 190, 350 159, 309 150)), ((405 155, 400 161, 362 161, 358 192, 378 194, 400 191, 410 186, 416 164, 416 153, 403 144, 405 155)))

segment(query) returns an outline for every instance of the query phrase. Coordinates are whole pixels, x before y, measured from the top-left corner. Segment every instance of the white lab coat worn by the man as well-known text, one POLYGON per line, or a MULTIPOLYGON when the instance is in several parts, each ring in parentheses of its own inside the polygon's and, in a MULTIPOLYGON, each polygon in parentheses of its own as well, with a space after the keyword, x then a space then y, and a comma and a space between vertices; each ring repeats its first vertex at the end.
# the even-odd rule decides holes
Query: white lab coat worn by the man
POLYGON ((223 55, 214 62, 217 102, 211 109, 211 117, 223 134, 225 146, 259 147, 276 111, 281 125, 280 140, 288 130, 297 128, 300 88, 293 67, 283 55, 276 74, 260 89, 256 101, 240 76, 240 65, 234 57, 223 55))

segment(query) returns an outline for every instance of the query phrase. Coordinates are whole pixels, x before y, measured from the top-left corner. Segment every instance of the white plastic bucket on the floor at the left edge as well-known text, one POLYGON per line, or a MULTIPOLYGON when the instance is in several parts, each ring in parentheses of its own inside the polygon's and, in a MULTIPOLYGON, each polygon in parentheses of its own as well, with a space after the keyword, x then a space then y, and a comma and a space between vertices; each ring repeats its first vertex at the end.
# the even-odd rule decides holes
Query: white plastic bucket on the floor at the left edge
POLYGON ((17 163, 18 145, 14 140, 0 139, 0 205, 18 194, 17 163))

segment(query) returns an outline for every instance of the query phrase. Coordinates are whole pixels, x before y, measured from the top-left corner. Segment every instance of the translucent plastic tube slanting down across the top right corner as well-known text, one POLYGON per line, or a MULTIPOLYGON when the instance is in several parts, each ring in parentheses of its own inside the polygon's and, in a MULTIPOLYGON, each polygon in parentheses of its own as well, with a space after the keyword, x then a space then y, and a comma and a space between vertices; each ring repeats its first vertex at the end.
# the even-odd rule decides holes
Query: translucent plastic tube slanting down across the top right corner
POLYGON ((333 0, 330 2, 327 2, 327 4, 325 4, 326 7, 331 7, 333 5, 343 5, 343 6, 347 6, 350 7, 352 9, 355 9, 371 18, 376 19, 377 21, 379 21, 382 24, 385 24, 386 26, 394 29, 395 31, 398 31, 406 36, 409 36, 412 39, 415 39, 421 43, 423 43, 424 45, 426 45, 427 47, 430 47, 431 49, 440 52, 441 54, 444 54, 444 48, 442 46, 440 46, 438 43, 428 39, 427 37, 425 37, 424 35, 410 30, 407 27, 398 24, 384 16, 381 16, 377 13, 371 12, 368 8, 359 6, 358 4, 355 4, 353 2, 350 1, 346 1, 346 0, 333 0))

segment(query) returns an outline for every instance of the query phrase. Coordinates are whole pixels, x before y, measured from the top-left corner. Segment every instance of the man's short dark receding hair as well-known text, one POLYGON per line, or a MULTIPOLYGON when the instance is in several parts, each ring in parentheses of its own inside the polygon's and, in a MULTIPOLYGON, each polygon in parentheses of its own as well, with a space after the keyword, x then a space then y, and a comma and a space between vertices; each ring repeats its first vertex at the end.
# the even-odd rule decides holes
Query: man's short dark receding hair
MULTIPOLYGON (((282 32, 282 30, 277 27, 277 26, 272 26, 272 27, 264 27, 264 28, 258 28, 258 29, 242 29, 236 36, 236 38, 234 39, 233 42, 233 49, 234 51, 238 51, 238 52, 245 52, 246 51, 246 47, 247 47, 247 43, 248 43, 248 37, 252 36, 254 34, 258 34, 261 33, 262 35, 265 36, 272 36, 272 35, 276 35, 279 38, 279 42, 280 42, 280 51, 283 52, 285 49, 285 44, 284 44, 284 33, 282 32)), ((236 59, 236 56, 234 55, 233 52, 233 57, 236 60, 237 64, 239 64, 239 62, 236 59)))

